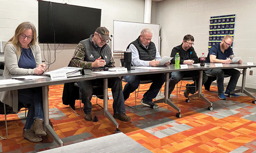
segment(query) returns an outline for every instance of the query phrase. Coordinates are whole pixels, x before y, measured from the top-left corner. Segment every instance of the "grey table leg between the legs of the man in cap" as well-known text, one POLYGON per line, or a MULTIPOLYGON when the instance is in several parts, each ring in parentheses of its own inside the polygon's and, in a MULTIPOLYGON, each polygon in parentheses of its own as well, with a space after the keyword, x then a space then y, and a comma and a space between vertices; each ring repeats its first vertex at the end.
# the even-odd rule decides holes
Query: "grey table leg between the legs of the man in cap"
POLYGON ((108 79, 103 79, 103 110, 100 110, 95 113, 95 116, 97 115, 104 115, 106 116, 112 124, 118 128, 118 123, 116 122, 115 118, 110 114, 108 111, 108 79))

